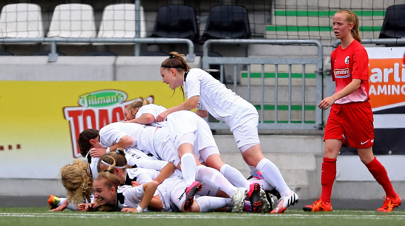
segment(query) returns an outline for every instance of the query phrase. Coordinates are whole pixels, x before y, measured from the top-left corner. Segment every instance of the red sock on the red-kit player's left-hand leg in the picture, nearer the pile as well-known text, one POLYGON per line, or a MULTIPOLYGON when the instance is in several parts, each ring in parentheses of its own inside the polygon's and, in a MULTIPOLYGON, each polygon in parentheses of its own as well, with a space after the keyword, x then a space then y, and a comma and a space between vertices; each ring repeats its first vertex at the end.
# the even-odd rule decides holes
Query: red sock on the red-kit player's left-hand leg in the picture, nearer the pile
POLYGON ((336 158, 324 158, 322 163, 321 184, 322 193, 321 199, 326 203, 330 203, 330 193, 332 193, 333 182, 336 177, 336 158))

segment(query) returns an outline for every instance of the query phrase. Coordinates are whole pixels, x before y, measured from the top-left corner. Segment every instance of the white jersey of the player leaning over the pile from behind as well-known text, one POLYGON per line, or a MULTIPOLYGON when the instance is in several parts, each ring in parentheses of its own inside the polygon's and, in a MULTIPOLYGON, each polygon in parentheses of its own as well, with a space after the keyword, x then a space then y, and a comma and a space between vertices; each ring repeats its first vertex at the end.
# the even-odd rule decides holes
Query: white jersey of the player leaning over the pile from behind
POLYGON ((208 111, 231 131, 238 126, 234 116, 251 104, 200 68, 185 74, 184 94, 187 99, 199 96, 197 110, 208 111))

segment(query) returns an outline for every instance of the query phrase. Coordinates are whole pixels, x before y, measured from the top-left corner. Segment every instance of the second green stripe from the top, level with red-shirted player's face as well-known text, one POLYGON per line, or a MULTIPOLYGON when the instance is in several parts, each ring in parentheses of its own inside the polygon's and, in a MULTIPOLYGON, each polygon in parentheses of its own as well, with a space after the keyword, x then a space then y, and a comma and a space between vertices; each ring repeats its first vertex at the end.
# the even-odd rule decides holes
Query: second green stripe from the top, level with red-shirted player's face
MULTIPOLYGON (((360 32, 380 31, 381 26, 361 26, 360 32)), ((279 26, 266 25, 266 32, 331 32, 332 26, 279 26)))

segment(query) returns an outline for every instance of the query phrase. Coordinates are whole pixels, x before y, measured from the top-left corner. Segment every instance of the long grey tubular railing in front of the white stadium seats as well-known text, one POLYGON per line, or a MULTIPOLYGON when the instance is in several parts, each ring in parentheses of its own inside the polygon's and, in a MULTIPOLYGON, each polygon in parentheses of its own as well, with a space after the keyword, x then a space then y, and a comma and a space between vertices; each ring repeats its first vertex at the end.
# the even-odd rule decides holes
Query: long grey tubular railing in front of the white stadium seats
MULTIPOLYGON (((56 44, 64 43, 134 43, 134 44, 167 44, 184 43, 188 45, 186 61, 194 61, 194 43, 186 38, 0 38, 0 43, 51 43, 51 53, 48 62, 55 62, 56 44)), ((139 46, 139 45, 136 45, 139 46)), ((135 56, 139 56, 139 51, 135 51, 135 56)))

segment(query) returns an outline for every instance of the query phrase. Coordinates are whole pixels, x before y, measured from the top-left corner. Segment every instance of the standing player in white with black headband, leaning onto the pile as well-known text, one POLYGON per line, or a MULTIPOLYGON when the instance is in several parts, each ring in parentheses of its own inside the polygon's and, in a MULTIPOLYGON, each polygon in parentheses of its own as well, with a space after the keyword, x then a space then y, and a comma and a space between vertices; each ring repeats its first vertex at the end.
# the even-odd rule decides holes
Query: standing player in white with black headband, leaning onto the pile
POLYGON ((257 131, 256 108, 238 96, 224 84, 200 68, 192 68, 177 52, 171 52, 163 61, 160 74, 163 82, 172 90, 184 86, 187 101, 159 114, 158 122, 179 110, 197 108, 196 114, 207 117, 207 112, 230 127, 243 159, 249 165, 251 175, 261 171, 264 178, 281 194, 277 206, 271 213, 280 213, 298 202, 298 195, 286 184, 277 166, 264 158, 257 131))

